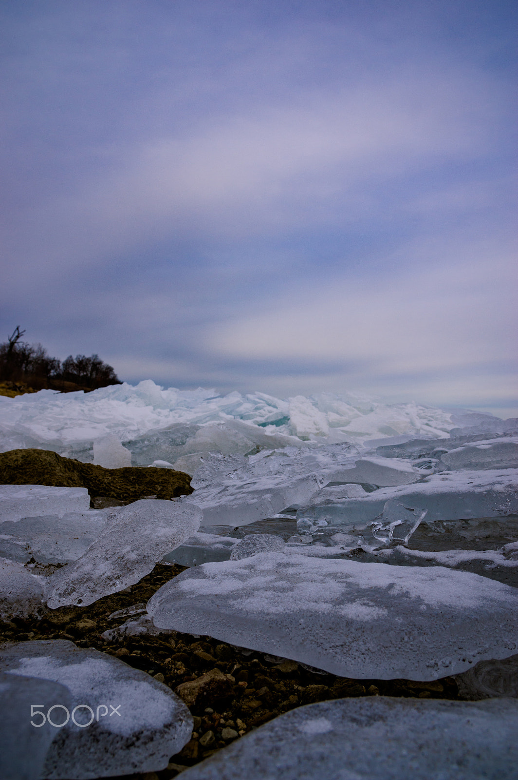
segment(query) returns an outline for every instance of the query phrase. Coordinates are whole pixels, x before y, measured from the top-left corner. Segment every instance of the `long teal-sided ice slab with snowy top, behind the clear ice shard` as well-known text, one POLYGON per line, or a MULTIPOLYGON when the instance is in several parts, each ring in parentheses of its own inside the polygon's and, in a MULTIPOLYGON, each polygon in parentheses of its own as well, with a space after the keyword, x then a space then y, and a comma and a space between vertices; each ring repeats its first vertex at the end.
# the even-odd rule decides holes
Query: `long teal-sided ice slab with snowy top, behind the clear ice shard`
POLYGON ((442 472, 414 485, 381 488, 362 498, 300 509, 297 519, 325 519, 329 525, 368 523, 394 499, 428 509, 427 522, 518 514, 518 470, 442 472))

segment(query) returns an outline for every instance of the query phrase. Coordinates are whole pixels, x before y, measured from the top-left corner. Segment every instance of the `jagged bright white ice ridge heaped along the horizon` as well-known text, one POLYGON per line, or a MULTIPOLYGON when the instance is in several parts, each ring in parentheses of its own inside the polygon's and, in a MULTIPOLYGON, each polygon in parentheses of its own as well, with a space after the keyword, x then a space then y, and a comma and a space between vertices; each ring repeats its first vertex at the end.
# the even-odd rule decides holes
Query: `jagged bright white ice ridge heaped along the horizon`
MULTIPOLYGON (((19 447, 43 447, 62 454, 82 448, 91 451, 93 441, 108 434, 126 443, 167 427, 189 425, 193 429, 187 431, 185 440, 173 445, 185 447, 189 440, 177 457, 189 452, 221 450, 213 441, 207 442, 203 432, 197 443, 190 441, 196 437, 197 427, 206 424, 213 424, 212 438, 218 435, 217 424, 226 424, 220 431, 221 439, 231 441, 240 434, 243 439, 254 441, 258 436, 264 439, 270 435, 277 447, 289 444, 288 437, 300 441, 331 435, 335 440, 358 442, 399 434, 433 438, 447 436, 455 427, 451 414, 414 403, 386 405, 348 393, 321 393, 312 398, 298 395, 287 400, 264 393, 231 392, 220 396, 203 388, 164 390, 151 380, 135 387, 112 385, 90 393, 41 390, 13 399, 0 397, 2 451, 19 447)), ((180 434, 179 429, 176 433, 180 434)), ((139 444, 140 449, 146 446, 144 441, 139 444)), ((151 444, 148 442, 147 446, 151 444)), ((139 446, 129 449, 135 450, 136 455, 139 446)), ((238 449, 232 446, 227 452, 238 449)), ((147 463, 155 459, 160 459, 160 455, 147 463)), ((171 457, 162 459, 171 461, 171 457)))

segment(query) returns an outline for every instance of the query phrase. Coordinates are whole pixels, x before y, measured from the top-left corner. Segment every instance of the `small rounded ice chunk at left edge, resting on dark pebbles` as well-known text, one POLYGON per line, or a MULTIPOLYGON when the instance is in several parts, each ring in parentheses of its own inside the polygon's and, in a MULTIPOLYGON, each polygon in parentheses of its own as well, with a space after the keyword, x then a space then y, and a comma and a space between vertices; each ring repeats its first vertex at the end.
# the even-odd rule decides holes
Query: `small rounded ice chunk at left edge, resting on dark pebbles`
POLYGON ((20 563, 0 558, 0 620, 29 618, 46 612, 43 585, 20 563))

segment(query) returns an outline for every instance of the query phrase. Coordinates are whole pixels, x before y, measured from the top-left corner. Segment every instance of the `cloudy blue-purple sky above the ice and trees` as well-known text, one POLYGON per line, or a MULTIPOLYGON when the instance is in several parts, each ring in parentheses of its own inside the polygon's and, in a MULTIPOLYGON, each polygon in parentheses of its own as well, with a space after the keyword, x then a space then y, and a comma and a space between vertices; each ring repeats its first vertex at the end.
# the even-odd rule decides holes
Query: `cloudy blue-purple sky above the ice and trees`
POLYGON ((2 0, 0 339, 518 415, 504 0, 2 0))

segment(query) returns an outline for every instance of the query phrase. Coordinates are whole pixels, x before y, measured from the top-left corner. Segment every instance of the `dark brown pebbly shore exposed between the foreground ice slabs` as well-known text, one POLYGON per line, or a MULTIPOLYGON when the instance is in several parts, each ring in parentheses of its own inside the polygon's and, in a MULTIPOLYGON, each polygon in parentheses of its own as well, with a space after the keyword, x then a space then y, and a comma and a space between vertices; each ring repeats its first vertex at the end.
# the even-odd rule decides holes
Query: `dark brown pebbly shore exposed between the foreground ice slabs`
POLYGON ((295 661, 233 647, 210 636, 158 632, 146 603, 182 566, 158 564, 139 583, 92 605, 48 610, 41 620, 0 623, 0 641, 65 639, 94 647, 152 675, 192 712, 192 739, 167 769, 119 780, 169 780, 222 747, 301 704, 346 697, 390 696, 455 700, 456 681, 337 677, 295 661), (129 624, 132 625, 129 625, 129 624), (142 631, 140 635, 136 632, 142 631))

